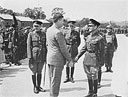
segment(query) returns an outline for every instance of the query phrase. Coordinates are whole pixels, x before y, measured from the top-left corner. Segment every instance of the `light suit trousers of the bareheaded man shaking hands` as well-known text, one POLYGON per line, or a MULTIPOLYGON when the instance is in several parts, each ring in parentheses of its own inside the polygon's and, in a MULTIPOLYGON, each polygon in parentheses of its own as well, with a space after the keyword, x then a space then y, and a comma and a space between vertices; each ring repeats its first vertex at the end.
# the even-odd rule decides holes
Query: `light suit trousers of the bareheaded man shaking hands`
POLYGON ((63 68, 64 66, 49 64, 50 97, 58 97, 59 95, 63 68))

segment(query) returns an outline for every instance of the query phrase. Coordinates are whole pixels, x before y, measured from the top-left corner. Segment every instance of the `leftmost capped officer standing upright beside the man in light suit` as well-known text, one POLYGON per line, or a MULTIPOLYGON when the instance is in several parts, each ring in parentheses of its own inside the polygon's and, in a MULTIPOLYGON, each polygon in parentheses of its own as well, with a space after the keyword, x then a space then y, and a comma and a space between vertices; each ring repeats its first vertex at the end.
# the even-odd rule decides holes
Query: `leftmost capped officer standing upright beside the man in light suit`
POLYGON ((29 68, 32 71, 32 81, 34 93, 39 91, 45 92, 41 85, 42 68, 46 61, 46 33, 41 32, 42 22, 33 22, 33 31, 28 34, 27 38, 27 55, 29 59, 29 68), (37 82, 36 82, 37 81, 37 82))

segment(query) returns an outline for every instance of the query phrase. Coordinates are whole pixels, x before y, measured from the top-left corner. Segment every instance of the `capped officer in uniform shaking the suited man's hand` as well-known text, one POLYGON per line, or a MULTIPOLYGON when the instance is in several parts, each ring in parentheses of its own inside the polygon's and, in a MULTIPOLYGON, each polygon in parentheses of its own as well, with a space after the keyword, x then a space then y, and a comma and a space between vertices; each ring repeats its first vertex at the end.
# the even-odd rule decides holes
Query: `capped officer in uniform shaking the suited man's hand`
POLYGON ((100 53, 102 53, 102 37, 99 34, 98 27, 100 23, 90 19, 89 32, 85 45, 76 56, 77 61, 84 53, 83 67, 88 78, 89 93, 85 97, 97 97, 98 68, 100 64, 100 53))

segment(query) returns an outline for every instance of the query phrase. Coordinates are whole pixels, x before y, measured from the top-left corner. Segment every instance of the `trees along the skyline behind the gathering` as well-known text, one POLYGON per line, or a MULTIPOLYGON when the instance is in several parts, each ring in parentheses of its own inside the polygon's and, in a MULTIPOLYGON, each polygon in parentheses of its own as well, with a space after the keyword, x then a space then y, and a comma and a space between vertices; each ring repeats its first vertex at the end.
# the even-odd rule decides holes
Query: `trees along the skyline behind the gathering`
MULTIPOLYGON (((25 16, 25 17, 30 17, 31 19, 46 19, 46 15, 45 12, 42 10, 42 7, 34 7, 33 9, 31 8, 26 8, 24 10, 23 13, 19 13, 19 12, 14 12, 11 9, 6 9, 6 8, 2 8, 0 6, 0 13, 1 14, 10 14, 12 15, 13 13, 15 14, 15 16, 25 16)), ((65 14, 63 8, 54 8, 52 10, 52 14, 51 16, 53 16, 56 13, 61 13, 61 14, 65 14)), ((49 21, 51 21, 51 19, 49 19, 49 21)), ((78 27, 84 27, 86 24, 88 24, 89 22, 89 18, 83 18, 81 20, 76 20, 76 26, 78 27)), ((111 21, 109 21, 111 22, 111 21)), ((101 23, 101 28, 105 28, 109 22, 105 22, 105 23, 101 23)), ((111 24, 113 25, 114 28, 128 28, 128 22, 125 25, 119 25, 116 22, 111 22, 111 24)))

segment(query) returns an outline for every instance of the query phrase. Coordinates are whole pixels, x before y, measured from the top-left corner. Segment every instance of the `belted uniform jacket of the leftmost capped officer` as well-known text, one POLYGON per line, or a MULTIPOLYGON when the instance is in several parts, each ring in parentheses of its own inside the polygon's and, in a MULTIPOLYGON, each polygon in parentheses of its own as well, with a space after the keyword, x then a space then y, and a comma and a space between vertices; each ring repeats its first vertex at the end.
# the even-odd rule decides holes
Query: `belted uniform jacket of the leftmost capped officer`
POLYGON ((46 61, 46 34, 44 32, 30 32, 27 38, 27 55, 37 62, 46 61))

